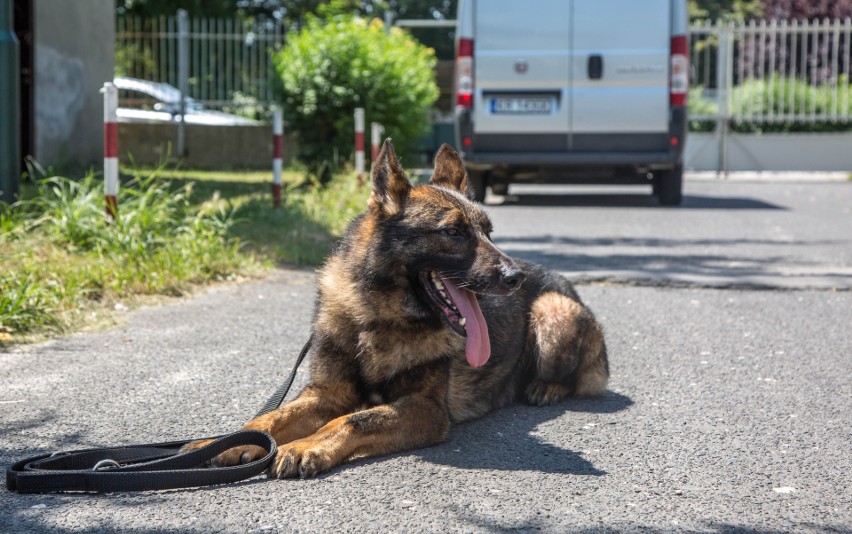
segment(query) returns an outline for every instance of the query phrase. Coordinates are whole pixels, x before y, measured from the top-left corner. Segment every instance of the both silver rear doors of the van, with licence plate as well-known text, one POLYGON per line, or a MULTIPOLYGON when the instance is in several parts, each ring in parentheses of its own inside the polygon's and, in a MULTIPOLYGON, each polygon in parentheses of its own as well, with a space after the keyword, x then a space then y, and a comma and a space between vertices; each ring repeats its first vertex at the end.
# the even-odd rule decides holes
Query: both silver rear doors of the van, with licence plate
POLYGON ((670 1, 475 2, 476 150, 666 150, 670 1))

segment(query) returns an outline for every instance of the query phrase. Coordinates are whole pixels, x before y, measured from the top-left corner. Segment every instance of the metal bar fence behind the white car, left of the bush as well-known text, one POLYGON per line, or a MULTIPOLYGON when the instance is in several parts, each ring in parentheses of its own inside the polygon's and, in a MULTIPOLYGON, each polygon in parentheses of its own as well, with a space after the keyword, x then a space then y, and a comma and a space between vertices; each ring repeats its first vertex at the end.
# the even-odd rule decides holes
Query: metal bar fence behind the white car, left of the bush
MULTIPOLYGON (((181 88, 181 29, 185 30, 187 95, 208 108, 267 109, 275 101, 272 54, 284 44, 273 20, 120 16, 116 22, 116 75, 181 88)), ((151 103, 122 95, 122 105, 151 103)))

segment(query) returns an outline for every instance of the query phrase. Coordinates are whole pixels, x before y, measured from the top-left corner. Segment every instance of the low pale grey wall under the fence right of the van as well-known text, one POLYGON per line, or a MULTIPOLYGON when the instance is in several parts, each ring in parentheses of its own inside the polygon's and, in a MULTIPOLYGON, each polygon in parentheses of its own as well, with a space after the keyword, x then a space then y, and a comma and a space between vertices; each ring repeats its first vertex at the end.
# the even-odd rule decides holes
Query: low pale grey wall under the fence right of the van
MULTIPOLYGON (((720 140, 715 133, 690 133, 684 165, 720 170, 720 140)), ((852 171, 852 132, 736 134, 727 138, 728 171, 852 171)))

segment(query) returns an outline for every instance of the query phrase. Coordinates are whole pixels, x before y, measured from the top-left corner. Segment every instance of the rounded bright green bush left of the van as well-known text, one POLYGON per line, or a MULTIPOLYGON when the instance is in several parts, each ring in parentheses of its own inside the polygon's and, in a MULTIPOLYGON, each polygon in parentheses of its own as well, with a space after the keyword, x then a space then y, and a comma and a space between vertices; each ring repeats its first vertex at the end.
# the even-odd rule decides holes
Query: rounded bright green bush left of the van
POLYGON ((434 51, 398 28, 337 15, 311 18, 275 56, 284 118, 299 139, 299 158, 321 179, 353 152, 356 107, 378 122, 405 154, 429 127, 438 98, 434 51))

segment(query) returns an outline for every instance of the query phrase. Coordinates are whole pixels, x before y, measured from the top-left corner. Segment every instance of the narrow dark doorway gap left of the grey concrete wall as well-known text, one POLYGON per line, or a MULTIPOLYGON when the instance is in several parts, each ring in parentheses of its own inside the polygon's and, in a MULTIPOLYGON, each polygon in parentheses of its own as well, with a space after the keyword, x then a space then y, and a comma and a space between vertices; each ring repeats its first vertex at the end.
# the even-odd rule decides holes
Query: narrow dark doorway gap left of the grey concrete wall
POLYGON ((21 169, 35 152, 35 35, 33 0, 14 0, 15 35, 21 51, 21 169))

